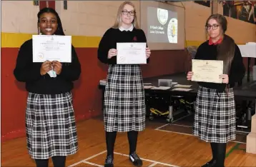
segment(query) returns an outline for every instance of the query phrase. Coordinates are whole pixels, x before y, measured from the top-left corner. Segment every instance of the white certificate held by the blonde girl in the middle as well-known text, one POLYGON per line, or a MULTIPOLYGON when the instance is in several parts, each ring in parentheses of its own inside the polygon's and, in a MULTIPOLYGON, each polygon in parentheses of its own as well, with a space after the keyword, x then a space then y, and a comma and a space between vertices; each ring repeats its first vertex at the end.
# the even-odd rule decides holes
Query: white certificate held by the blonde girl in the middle
POLYGON ((146 43, 117 43, 117 64, 147 64, 146 43))

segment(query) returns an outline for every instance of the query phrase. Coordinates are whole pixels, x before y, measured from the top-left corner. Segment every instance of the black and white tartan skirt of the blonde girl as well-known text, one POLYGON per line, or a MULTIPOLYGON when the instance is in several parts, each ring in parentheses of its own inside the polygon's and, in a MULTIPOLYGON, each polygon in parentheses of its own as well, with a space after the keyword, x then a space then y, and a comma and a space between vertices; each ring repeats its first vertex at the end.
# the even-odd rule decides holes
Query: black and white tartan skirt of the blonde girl
POLYGON ((107 132, 143 131, 146 106, 139 65, 109 65, 104 92, 104 128, 107 132))

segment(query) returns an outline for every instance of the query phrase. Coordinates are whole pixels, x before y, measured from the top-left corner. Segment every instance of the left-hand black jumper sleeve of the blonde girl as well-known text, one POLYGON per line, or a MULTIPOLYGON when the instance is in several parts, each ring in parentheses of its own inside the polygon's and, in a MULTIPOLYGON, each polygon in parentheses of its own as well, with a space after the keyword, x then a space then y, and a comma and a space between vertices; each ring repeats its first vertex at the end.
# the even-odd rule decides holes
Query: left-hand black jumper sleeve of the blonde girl
MULTIPOLYGON (((115 56, 112 57, 112 59, 108 59, 107 55, 109 53, 109 49, 111 49, 110 41, 111 38, 111 31, 108 29, 105 34, 102 36, 101 41, 99 42, 98 47, 98 59, 104 64, 109 64, 112 59, 114 59, 115 56)), ((114 38, 114 36, 112 36, 114 38)))

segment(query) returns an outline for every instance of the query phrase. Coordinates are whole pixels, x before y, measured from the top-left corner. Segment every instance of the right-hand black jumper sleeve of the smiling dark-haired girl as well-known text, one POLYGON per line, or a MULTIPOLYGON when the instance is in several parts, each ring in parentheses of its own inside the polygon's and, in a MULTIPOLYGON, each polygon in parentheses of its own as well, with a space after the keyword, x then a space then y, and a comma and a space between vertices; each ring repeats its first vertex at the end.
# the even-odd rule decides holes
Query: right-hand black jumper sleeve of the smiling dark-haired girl
POLYGON ((75 51, 74 46, 72 46, 72 63, 68 65, 63 64, 61 69, 61 74, 59 74, 59 76, 69 81, 75 81, 79 79, 80 74, 81 74, 81 64, 77 57, 77 52, 75 51))

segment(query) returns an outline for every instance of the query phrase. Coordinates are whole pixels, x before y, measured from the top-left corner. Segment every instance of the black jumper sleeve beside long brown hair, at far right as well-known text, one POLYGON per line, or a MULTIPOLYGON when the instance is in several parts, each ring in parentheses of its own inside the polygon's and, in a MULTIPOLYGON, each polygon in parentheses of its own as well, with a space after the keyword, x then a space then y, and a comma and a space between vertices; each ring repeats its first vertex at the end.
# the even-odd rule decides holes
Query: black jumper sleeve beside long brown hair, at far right
POLYGON ((242 61, 242 55, 238 46, 235 46, 235 56, 230 67, 229 83, 241 81, 245 76, 245 65, 242 61))

